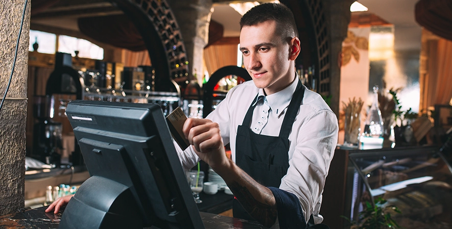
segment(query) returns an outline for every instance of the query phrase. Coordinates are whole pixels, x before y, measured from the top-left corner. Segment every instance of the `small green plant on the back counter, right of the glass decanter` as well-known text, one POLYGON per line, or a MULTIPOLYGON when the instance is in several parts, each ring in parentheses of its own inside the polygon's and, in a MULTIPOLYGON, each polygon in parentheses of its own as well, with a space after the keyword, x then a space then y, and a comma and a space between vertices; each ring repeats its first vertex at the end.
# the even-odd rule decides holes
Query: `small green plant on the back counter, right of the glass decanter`
POLYGON ((408 110, 402 110, 400 100, 397 98, 398 90, 389 90, 395 103, 394 114, 394 138, 396 146, 407 146, 413 143, 413 128, 411 121, 418 117, 418 113, 413 112, 411 107, 408 110))

